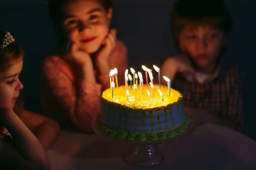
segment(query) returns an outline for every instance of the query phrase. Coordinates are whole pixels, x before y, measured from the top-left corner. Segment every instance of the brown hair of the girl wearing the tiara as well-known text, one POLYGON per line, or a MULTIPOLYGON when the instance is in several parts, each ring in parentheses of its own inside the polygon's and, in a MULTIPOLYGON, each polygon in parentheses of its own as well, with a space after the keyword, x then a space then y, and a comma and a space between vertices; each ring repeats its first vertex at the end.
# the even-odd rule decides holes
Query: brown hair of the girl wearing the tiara
MULTIPOLYGON (((0 31, 0 40, 3 40, 5 37, 6 31, 0 31)), ((3 42, 0 42, 1 45, 3 42)), ((24 57, 24 51, 22 47, 16 42, 12 42, 7 45, 5 48, 0 49, 0 72, 6 71, 12 65, 15 65, 17 62, 20 62, 24 57)), ((15 103, 15 113, 19 115, 22 112, 24 103, 23 94, 20 93, 17 102, 15 103)))

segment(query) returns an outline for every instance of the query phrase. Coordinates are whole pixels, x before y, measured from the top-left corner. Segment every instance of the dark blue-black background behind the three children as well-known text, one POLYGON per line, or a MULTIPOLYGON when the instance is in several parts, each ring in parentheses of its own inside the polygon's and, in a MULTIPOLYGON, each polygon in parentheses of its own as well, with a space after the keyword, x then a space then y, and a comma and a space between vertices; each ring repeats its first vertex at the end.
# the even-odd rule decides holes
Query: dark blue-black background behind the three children
MULTIPOLYGON (((174 0, 114 0, 112 27, 128 48, 129 65, 159 65, 176 54, 169 29, 174 0)), ((226 0, 234 21, 227 59, 246 73, 247 118, 244 133, 256 140, 256 0, 226 0)), ((41 62, 58 44, 44 0, 0 0, 0 28, 10 31, 26 53, 20 79, 25 108, 41 113, 41 62)))

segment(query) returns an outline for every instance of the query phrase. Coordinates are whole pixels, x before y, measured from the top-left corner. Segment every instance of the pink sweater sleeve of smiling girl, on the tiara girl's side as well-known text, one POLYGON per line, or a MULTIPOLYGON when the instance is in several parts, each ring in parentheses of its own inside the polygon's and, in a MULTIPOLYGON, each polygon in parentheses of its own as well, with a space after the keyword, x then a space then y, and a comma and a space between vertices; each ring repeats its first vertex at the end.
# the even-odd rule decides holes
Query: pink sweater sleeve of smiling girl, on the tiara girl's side
POLYGON ((43 76, 55 98, 53 101, 64 108, 63 114, 67 115, 63 116, 67 116, 81 130, 91 131, 91 122, 101 111, 102 85, 84 80, 74 82, 50 58, 44 61, 43 76))

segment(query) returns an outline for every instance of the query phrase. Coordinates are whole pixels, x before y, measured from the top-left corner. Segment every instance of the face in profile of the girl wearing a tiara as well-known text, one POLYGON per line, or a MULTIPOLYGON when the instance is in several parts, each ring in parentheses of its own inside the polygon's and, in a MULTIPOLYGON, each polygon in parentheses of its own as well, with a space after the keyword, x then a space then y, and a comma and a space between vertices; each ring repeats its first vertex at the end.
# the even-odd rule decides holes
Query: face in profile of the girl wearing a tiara
POLYGON ((23 59, 0 73, 0 107, 14 108, 20 90, 23 89, 18 78, 22 67, 23 59))

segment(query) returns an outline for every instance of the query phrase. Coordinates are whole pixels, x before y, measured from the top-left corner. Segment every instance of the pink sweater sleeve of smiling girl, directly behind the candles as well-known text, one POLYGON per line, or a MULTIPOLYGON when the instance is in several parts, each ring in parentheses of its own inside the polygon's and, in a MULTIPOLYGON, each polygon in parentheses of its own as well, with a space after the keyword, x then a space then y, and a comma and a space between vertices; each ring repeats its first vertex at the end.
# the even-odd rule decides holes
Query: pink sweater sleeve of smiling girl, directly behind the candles
MULTIPOLYGON (((110 88, 109 83, 109 72, 111 69, 117 68, 118 74, 118 85, 124 85, 125 83, 125 70, 128 69, 128 61, 127 61, 127 49, 123 42, 118 41, 116 43, 116 50, 113 51, 111 57, 109 59, 109 65, 106 66, 108 71, 104 74, 99 75, 99 80, 102 84, 103 90, 110 88)), ((99 68, 102 70, 106 70, 104 68, 99 68)), ((103 71, 99 70, 99 73, 103 73, 103 71)), ((116 84, 116 80, 115 80, 116 84)))

